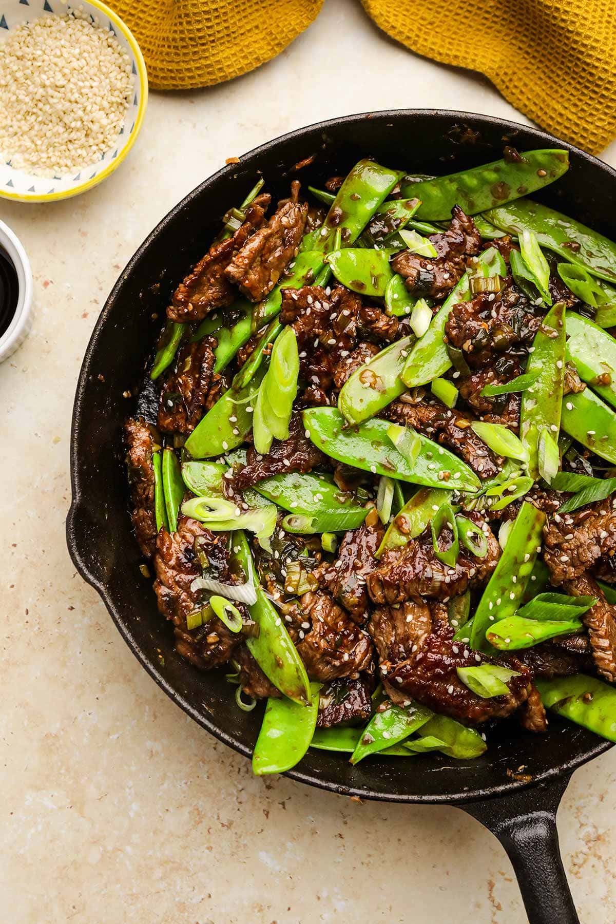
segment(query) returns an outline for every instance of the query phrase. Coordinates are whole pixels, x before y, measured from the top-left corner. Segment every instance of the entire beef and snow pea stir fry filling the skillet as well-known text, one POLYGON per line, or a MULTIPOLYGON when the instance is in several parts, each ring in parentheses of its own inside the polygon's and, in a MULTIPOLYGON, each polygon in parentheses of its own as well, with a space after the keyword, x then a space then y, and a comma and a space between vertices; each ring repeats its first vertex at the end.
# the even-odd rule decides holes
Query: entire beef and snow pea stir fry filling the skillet
POLYGON ((616 244, 531 198, 567 167, 260 180, 175 288, 132 519, 178 655, 266 700, 256 773, 616 741, 616 244))

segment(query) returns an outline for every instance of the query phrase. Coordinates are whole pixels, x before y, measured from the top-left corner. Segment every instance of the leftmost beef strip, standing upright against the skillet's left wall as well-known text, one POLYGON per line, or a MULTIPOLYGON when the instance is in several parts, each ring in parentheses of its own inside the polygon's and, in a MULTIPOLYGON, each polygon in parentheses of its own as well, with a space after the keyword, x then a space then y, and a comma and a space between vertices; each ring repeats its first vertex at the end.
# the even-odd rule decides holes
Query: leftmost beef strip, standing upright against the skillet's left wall
POLYGON ((154 468, 151 461, 154 446, 161 438, 156 428, 143 419, 127 419, 124 425, 127 446, 128 481, 133 502, 133 529, 141 554, 151 558, 156 546, 156 516, 154 513, 154 468))

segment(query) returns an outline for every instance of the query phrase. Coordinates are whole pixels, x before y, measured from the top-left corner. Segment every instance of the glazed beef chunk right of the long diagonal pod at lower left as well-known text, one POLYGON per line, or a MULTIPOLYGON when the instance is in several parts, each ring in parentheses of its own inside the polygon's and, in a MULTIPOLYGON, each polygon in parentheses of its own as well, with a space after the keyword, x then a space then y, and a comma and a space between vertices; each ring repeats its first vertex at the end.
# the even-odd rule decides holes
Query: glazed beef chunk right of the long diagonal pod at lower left
POLYGON ((353 677, 372 669, 372 642, 350 615, 322 590, 305 593, 300 606, 310 623, 297 651, 308 676, 326 682, 336 677, 353 677))

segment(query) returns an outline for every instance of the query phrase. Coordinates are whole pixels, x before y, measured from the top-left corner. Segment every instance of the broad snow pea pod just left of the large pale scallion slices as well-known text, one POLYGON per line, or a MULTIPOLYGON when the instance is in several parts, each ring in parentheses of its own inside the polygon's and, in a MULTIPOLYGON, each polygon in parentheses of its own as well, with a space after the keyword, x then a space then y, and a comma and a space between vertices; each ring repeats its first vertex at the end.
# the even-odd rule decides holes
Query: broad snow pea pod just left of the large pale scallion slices
POLYGON ((188 437, 184 448, 193 458, 223 456, 241 445, 252 429, 253 407, 265 369, 260 368, 251 381, 238 392, 232 388, 222 395, 188 437))

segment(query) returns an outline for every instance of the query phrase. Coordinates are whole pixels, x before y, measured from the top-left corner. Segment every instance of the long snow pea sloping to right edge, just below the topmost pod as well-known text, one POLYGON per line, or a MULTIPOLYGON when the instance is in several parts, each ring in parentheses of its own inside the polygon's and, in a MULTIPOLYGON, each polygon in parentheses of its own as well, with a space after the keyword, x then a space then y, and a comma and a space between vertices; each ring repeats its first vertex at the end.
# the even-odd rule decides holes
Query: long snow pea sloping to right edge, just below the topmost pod
POLYGON ((540 202, 520 199, 490 209, 484 218, 509 234, 533 231, 541 247, 558 253, 568 263, 582 266, 599 279, 616 282, 616 243, 568 215, 540 202))

